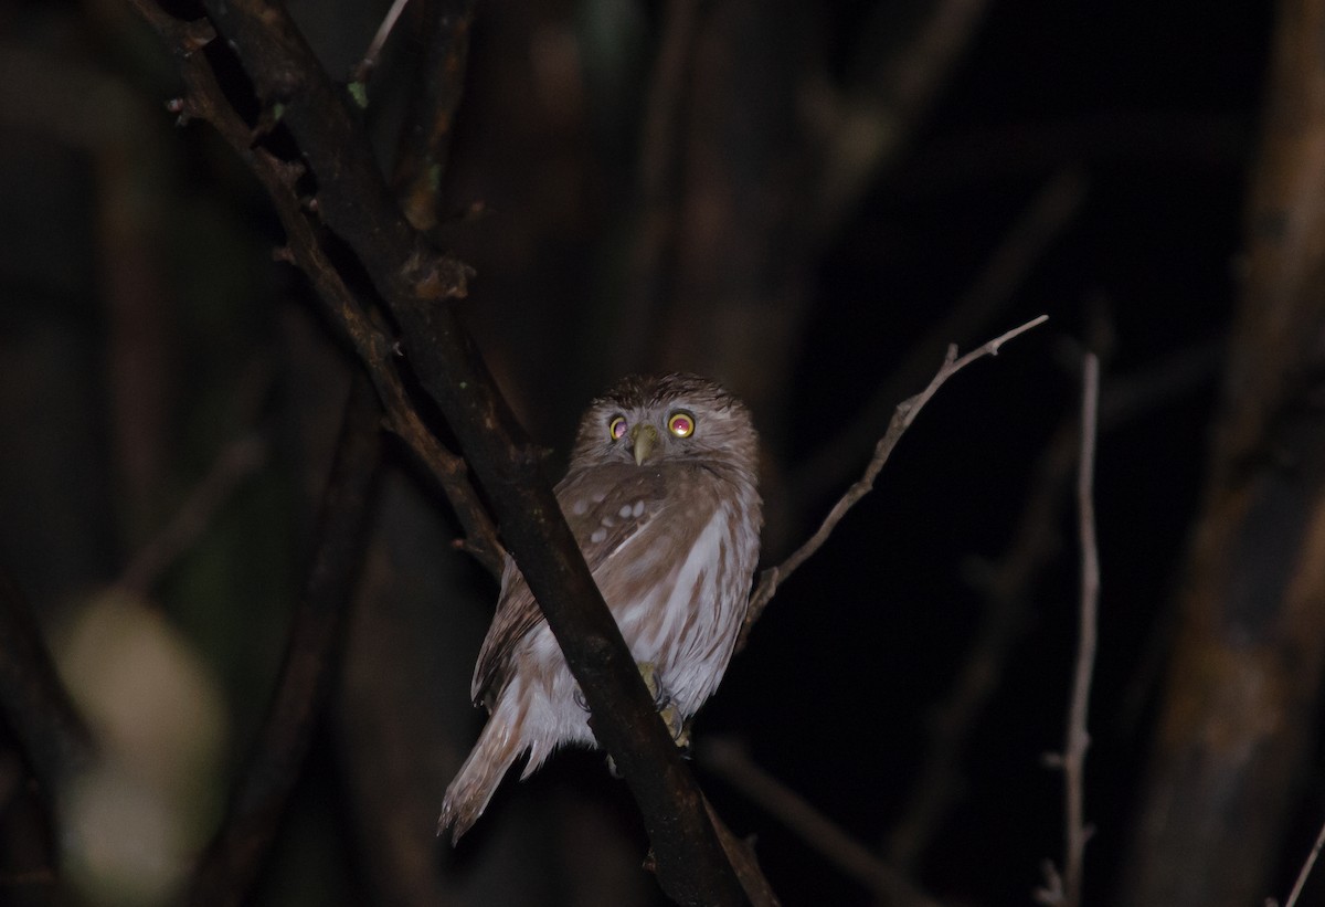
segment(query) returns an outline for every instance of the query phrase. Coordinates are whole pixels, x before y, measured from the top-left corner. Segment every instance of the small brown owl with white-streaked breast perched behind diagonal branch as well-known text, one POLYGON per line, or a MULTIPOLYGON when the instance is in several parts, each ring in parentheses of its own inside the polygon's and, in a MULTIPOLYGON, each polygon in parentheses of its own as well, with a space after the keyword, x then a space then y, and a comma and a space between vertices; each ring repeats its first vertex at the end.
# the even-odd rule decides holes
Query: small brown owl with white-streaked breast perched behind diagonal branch
MULTIPOLYGON (((625 378, 579 424, 562 505, 673 733, 717 690, 745 619, 762 525, 750 414, 697 375, 625 378)), ((447 789, 458 841, 506 769, 529 777, 563 744, 595 745, 588 712, 514 561, 474 680, 490 717, 447 789)))

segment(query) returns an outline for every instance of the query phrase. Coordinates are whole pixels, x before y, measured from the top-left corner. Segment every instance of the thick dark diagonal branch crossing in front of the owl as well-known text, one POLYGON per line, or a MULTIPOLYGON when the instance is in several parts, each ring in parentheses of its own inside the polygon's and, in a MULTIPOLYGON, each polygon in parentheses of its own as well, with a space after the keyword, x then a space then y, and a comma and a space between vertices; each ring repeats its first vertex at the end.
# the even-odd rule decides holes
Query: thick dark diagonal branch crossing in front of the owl
MULTIPOLYGON (((192 46, 174 42, 184 56, 183 69, 193 91, 187 103, 211 113, 228 106, 215 78, 197 73, 191 78, 189 70, 205 65, 197 62, 199 27, 168 25, 148 0, 134 4, 168 38, 182 29, 184 38, 195 41, 192 46), (200 93, 207 98, 199 98, 200 93)), ((702 796, 560 514, 542 473, 541 454, 523 438, 472 339, 445 305, 447 298, 464 296, 468 269, 432 249, 404 220, 362 130, 285 9, 264 0, 207 0, 204 5, 227 46, 238 56, 264 109, 289 130, 317 183, 318 219, 367 272, 401 330, 407 361, 482 483, 515 562, 584 692, 595 735, 640 806, 660 884, 686 904, 739 903, 739 883, 705 814, 702 796)), ((265 155, 241 154, 268 183, 264 168, 272 164, 262 163, 265 155)), ((289 228, 303 213, 290 211, 286 195, 273 192, 273 200, 289 228)), ((292 243, 292 252, 319 289, 322 281, 335 282, 317 273, 325 263, 306 256, 307 249, 292 243)), ((348 297, 334 301, 346 308, 352 302, 348 297)), ((382 353, 378 349, 374 355, 382 353)))

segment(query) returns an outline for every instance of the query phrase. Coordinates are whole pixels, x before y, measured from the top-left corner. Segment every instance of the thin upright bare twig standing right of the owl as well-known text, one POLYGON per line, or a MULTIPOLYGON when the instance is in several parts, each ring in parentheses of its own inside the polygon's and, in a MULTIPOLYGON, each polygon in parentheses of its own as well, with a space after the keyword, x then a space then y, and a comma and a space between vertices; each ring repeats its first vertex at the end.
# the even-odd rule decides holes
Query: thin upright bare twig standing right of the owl
POLYGON ((1064 817, 1064 870, 1045 869, 1048 887, 1036 898, 1045 904, 1080 907, 1085 845, 1090 829, 1085 823, 1085 755, 1090 747, 1086 729, 1090 707, 1090 679, 1098 634, 1100 549, 1094 532, 1094 448, 1100 403, 1100 359, 1085 355, 1081 382, 1081 460, 1077 471, 1077 512, 1081 542, 1081 626, 1068 705, 1068 729, 1063 753, 1052 761, 1063 769, 1067 798, 1064 817))

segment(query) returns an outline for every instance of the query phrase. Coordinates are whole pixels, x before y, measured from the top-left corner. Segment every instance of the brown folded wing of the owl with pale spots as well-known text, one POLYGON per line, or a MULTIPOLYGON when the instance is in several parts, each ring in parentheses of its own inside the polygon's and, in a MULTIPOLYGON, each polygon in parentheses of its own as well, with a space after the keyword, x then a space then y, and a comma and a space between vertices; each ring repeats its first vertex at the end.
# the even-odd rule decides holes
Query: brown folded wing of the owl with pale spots
MULTIPOLYGON (((661 472, 629 463, 576 469, 556 485, 562 513, 595 578, 625 542, 659 517, 665 495, 661 472)), ((515 647, 543 622, 543 613, 510 557, 501 586, 497 614, 474 666, 470 695, 476 703, 505 686, 515 647)))

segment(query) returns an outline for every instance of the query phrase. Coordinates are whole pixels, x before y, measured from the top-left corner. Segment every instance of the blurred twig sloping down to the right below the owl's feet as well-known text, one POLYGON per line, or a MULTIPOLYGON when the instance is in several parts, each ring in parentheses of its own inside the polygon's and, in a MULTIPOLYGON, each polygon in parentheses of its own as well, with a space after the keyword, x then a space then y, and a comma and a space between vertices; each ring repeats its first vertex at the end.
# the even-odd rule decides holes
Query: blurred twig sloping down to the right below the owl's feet
POLYGON ((709 739, 697 747, 700 764, 795 831, 843 873, 898 907, 938 907, 905 875, 876 857, 841 826, 763 770, 735 741, 709 739))

